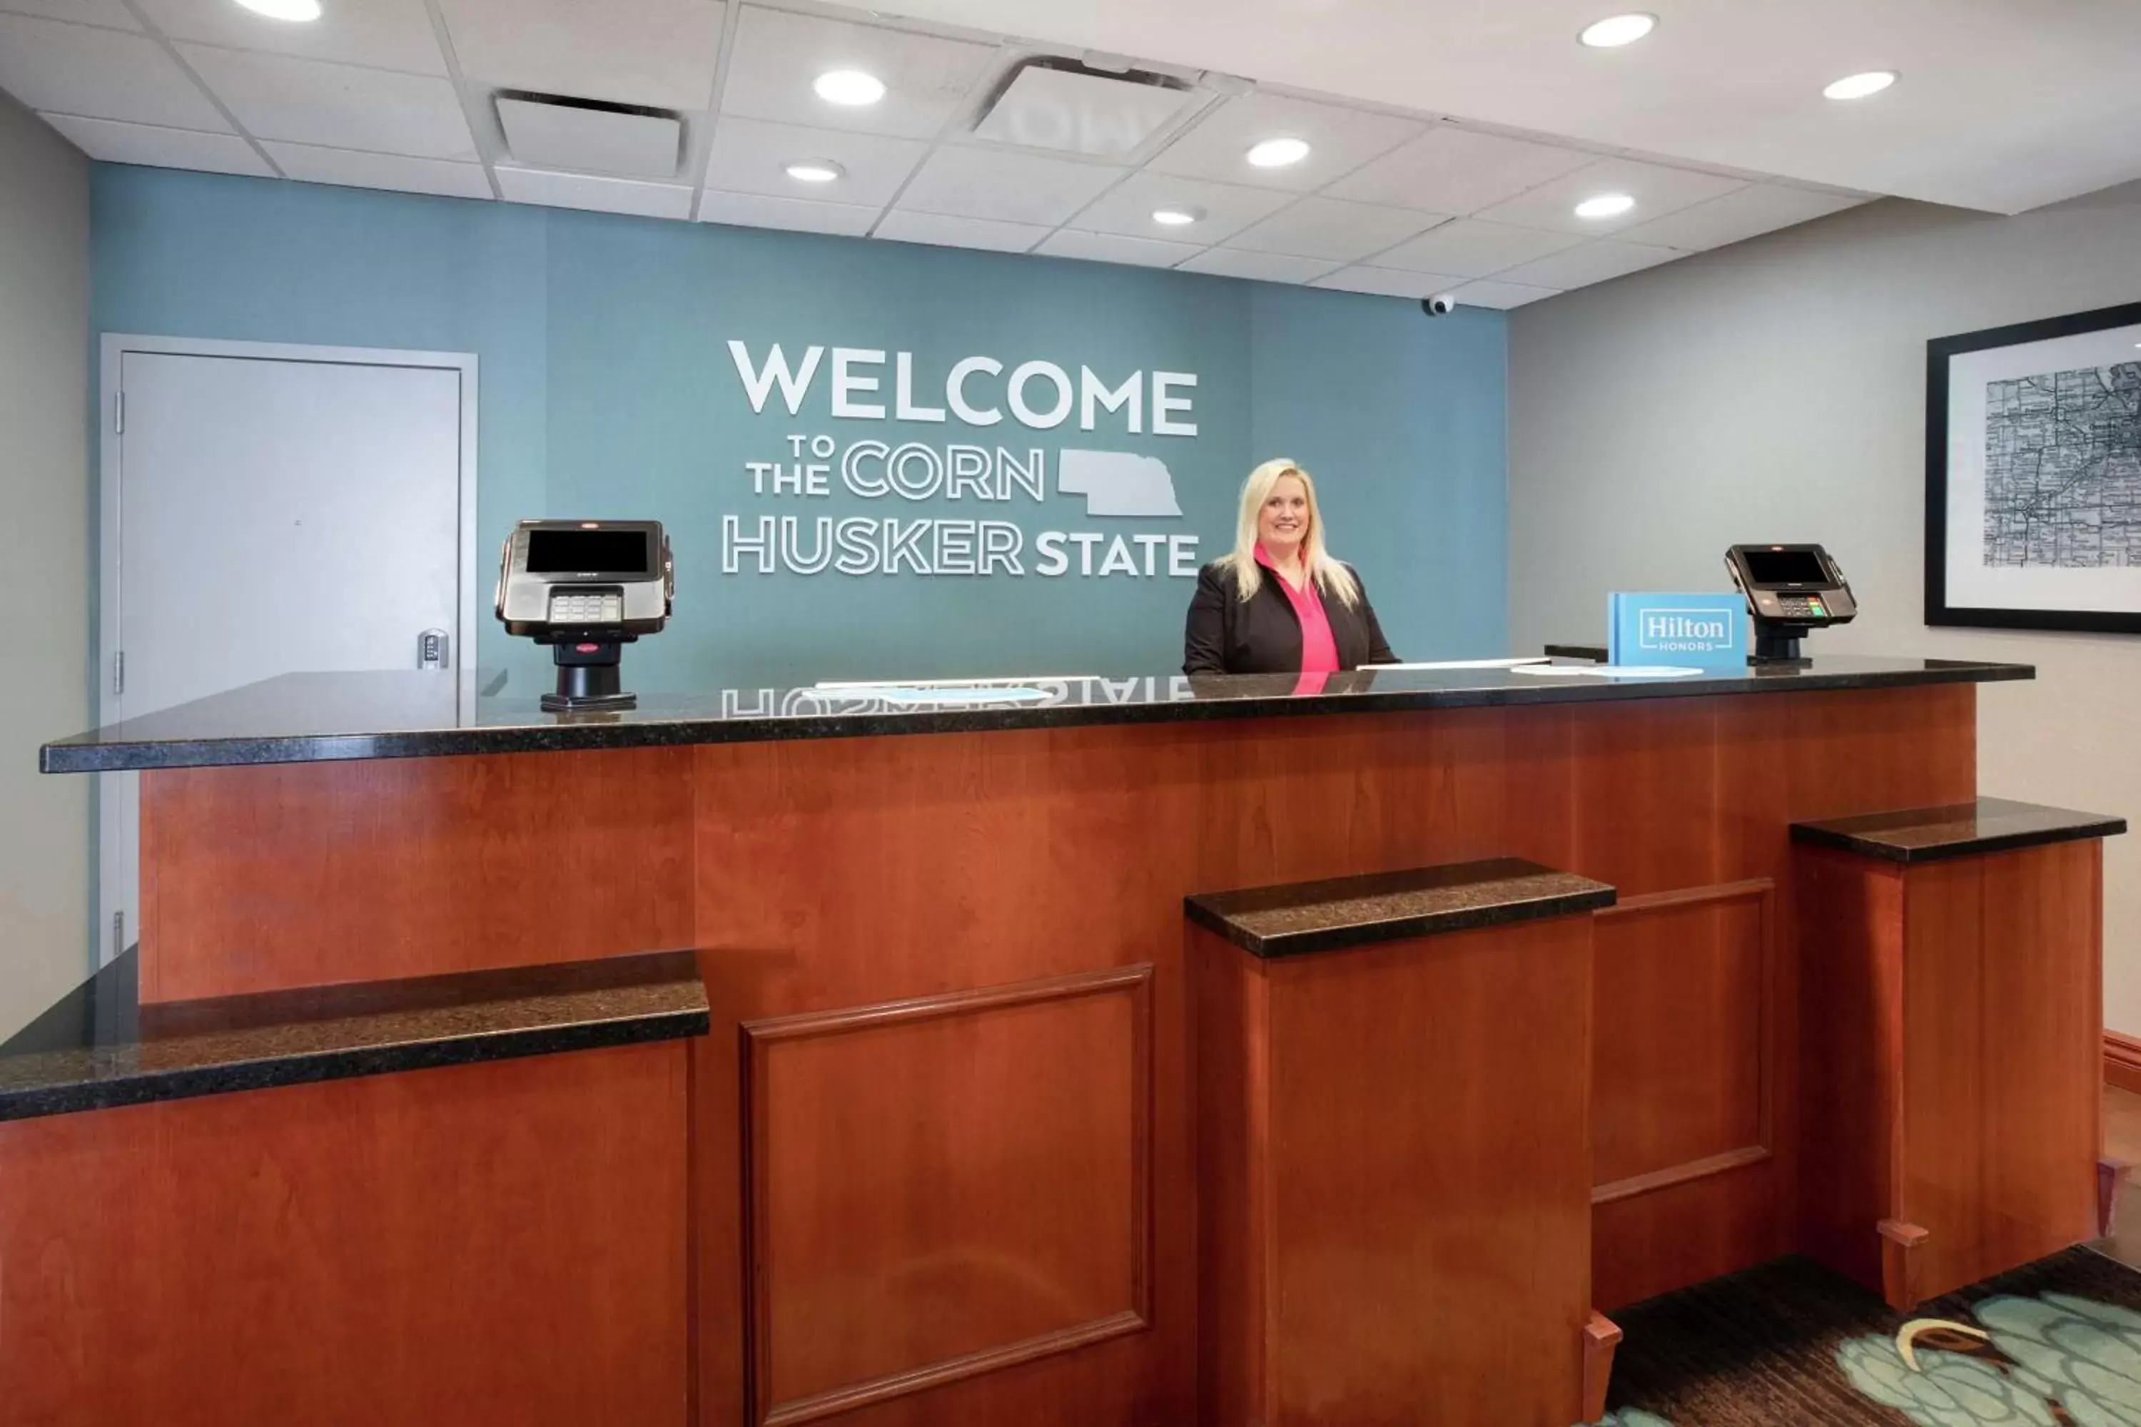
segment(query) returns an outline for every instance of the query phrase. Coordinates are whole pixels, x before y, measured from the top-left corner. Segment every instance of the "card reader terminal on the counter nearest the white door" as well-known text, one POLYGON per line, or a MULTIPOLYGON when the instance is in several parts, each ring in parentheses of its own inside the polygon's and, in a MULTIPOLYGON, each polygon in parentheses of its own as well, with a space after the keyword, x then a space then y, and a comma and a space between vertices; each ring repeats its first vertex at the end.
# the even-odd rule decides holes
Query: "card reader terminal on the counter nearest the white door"
POLYGON ((507 633, 552 648, 546 710, 634 708, 621 646, 662 631, 674 588, 657 520, 522 520, 499 552, 497 614, 507 633))

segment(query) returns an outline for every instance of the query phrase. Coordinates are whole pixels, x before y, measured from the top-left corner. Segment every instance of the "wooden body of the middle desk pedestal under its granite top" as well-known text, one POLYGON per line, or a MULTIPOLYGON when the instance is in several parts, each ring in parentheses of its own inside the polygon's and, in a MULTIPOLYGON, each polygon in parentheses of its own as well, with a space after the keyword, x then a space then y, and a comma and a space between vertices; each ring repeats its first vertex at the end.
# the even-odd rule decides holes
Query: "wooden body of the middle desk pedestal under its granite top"
POLYGON ((1591 918, 1193 956, 1199 1421, 1578 1421, 1591 918))

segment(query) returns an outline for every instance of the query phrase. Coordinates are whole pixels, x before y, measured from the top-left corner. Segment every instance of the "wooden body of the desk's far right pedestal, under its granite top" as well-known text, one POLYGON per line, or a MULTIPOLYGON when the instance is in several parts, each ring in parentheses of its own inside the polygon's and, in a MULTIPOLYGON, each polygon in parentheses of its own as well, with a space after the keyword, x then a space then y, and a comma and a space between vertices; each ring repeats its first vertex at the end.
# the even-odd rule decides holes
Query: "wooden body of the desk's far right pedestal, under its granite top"
POLYGON ((1796 856, 1807 1252, 1908 1309, 2092 1239, 2102 843, 1796 856))

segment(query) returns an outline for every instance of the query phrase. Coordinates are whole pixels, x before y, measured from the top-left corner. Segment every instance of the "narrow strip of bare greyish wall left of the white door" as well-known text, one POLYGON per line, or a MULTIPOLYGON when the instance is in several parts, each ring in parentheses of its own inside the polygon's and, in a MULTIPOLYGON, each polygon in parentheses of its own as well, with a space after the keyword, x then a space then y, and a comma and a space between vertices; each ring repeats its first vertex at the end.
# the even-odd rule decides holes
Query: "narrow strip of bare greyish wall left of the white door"
POLYGON ((90 967, 90 781, 36 747, 90 708, 90 169, 0 94, 0 1035, 90 967))

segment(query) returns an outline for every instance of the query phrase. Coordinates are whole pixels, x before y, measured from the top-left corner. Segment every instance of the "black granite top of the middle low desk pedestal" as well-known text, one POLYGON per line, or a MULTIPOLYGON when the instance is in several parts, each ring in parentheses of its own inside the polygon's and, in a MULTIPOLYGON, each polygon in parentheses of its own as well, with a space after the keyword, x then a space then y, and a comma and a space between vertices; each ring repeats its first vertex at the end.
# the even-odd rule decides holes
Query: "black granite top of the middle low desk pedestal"
POLYGON ((1604 881, 1557 873, 1524 858, 1490 858, 1203 892, 1184 896, 1182 909, 1193 922, 1252 956, 1300 956, 1569 916, 1610 907, 1612 901, 1614 890, 1604 881))

